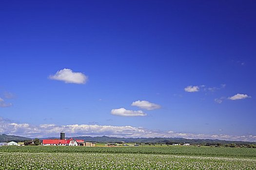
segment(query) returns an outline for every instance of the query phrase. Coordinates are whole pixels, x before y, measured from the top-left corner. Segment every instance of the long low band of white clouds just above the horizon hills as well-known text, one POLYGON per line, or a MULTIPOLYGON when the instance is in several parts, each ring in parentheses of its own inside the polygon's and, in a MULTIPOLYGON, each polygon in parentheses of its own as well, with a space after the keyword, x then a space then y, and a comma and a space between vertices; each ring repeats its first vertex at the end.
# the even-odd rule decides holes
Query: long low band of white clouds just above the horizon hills
POLYGON ((141 127, 132 126, 109 126, 109 125, 55 125, 41 124, 31 125, 28 123, 15 123, 0 117, 0 134, 25 136, 25 137, 49 137, 59 136, 59 133, 64 131, 67 136, 110 136, 110 137, 184 137, 191 139, 221 139, 221 140, 236 140, 236 141, 254 141, 256 136, 231 136, 231 135, 206 135, 206 134, 191 134, 178 133, 174 131, 156 131, 141 127))

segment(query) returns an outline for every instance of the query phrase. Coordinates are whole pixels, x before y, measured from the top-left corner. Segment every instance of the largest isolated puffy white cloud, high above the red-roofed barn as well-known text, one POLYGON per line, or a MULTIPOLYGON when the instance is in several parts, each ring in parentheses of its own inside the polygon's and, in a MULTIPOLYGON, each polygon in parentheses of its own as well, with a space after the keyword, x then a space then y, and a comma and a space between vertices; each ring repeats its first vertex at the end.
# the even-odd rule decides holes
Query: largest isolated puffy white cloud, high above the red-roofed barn
POLYGON ((59 80, 65 83, 85 84, 88 77, 81 72, 73 72, 71 69, 64 68, 49 76, 52 80, 59 80))

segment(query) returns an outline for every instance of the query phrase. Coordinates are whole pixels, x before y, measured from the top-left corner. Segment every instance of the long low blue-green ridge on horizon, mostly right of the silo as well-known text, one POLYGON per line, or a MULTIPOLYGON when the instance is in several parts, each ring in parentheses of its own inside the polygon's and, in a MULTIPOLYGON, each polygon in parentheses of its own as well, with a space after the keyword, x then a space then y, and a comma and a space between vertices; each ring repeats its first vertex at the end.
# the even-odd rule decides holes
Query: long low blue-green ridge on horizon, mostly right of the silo
MULTIPOLYGON (((56 138, 56 137, 49 137, 56 138)), ((68 137, 67 137, 68 138, 68 137)), ((256 142, 246 142, 246 141, 228 141, 228 140, 219 140, 219 139, 186 139, 181 137, 139 137, 139 138, 124 138, 124 137, 108 137, 108 136, 74 136, 75 139, 82 139, 88 142, 98 142, 98 143, 107 143, 107 142, 138 142, 138 143, 190 143, 190 144, 231 144, 235 143, 237 145, 248 145, 256 144, 256 142)))

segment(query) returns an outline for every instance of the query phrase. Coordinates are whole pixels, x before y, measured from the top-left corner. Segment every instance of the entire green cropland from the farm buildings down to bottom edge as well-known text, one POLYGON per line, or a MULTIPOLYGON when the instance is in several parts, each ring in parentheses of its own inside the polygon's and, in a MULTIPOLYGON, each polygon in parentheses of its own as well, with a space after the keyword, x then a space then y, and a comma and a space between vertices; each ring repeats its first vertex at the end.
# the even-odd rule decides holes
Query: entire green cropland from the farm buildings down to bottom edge
POLYGON ((256 170, 256 149, 163 147, 0 147, 0 170, 256 170))

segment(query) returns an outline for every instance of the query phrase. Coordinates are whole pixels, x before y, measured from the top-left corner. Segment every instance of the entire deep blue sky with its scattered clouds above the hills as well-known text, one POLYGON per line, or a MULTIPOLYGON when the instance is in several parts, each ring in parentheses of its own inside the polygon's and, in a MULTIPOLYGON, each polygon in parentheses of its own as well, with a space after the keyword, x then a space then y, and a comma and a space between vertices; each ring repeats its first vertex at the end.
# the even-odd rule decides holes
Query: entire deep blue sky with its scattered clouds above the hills
POLYGON ((0 6, 0 133, 256 141, 256 3, 0 6))

